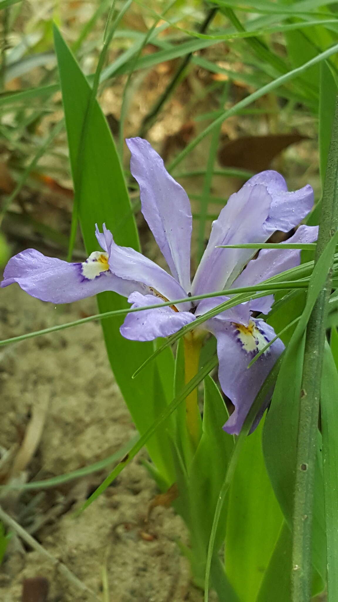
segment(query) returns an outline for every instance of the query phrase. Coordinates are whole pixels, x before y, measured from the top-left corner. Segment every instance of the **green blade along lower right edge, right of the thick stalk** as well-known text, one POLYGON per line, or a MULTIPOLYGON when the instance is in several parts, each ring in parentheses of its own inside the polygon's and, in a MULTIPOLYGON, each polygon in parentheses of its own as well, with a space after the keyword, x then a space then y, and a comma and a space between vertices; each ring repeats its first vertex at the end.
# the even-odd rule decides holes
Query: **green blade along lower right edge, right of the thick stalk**
MULTIPOLYGON (((337 331, 334 337, 337 338, 337 331)), ((336 347, 334 344, 333 348, 336 347)), ((321 417, 323 437, 323 472, 325 527, 327 535, 328 602, 338 600, 338 373, 337 355, 325 347, 321 380, 321 417)))

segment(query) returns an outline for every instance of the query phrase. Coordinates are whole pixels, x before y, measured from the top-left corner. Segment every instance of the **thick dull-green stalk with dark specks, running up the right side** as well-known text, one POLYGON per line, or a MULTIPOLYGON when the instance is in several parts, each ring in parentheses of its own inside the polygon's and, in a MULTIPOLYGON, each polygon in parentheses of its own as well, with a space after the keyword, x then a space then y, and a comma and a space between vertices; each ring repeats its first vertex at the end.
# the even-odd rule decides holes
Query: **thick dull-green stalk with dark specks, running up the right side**
MULTIPOLYGON (((334 116, 322 199, 315 262, 338 225, 338 99, 334 116)), ((312 584, 312 515, 315 485, 316 438, 325 344, 325 326, 331 290, 331 270, 310 315, 306 331, 297 466, 293 507, 292 602, 309 602, 312 584)))

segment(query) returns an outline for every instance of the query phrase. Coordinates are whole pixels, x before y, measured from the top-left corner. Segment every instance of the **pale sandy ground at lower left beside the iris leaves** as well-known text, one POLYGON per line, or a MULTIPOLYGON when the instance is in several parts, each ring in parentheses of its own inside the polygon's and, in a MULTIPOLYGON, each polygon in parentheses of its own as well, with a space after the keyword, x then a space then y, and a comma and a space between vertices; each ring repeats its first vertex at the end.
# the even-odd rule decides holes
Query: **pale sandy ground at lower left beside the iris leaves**
MULTIPOLYGON (((1 338, 95 311, 93 299, 55 308, 14 285, 0 292, 1 338)), ((13 468, 26 429, 44 413, 37 450, 20 479, 68 473, 106 458, 135 436, 97 323, 2 347, 0 389, 1 453, 4 457, 9 450, 12 458, 0 464, 2 480, 3 465, 13 468)), ((188 541, 180 517, 171 508, 158 507, 144 523, 148 504, 158 493, 144 457, 146 452, 79 518, 73 510, 106 472, 46 491, 2 491, 2 507, 94 592, 81 591, 51 560, 14 536, 1 567, 2 602, 19 602, 23 579, 35 576, 49 580, 48 602, 202 600, 176 543, 188 541)))

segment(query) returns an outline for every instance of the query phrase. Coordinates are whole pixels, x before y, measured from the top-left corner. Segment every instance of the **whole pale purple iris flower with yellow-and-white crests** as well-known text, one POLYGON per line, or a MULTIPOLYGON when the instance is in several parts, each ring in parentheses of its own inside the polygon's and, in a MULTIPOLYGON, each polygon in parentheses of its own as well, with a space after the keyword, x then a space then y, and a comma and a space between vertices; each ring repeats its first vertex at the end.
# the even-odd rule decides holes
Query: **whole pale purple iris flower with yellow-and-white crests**
MULTIPOLYGON (((252 259, 255 253, 252 249, 216 248, 265 243, 273 232, 289 232, 309 213, 313 205, 310 185, 288 192, 279 173, 265 171, 230 196, 212 226, 209 243, 191 283, 192 217, 188 196, 146 140, 131 138, 127 144, 132 155, 131 172, 140 186, 143 216, 171 274, 134 249, 115 244, 111 232, 103 225, 103 233, 96 226, 102 250, 91 253, 83 263, 67 263, 27 249, 10 259, 1 287, 17 282, 33 297, 51 303, 69 303, 112 290, 128 297, 132 308, 138 308, 252 286, 300 263, 300 250, 283 249, 283 243, 280 249, 261 250, 257 259, 252 259)), ((310 243, 317 234, 316 227, 300 226, 288 242, 310 243)), ((120 332, 134 341, 168 337, 227 299, 214 297, 131 313, 120 332)), ((268 295, 241 303, 201 326, 217 338, 221 387, 235 406, 224 425, 228 433, 239 433, 260 386, 284 349, 277 338, 247 369, 251 359, 275 337, 271 326, 253 317, 253 312, 268 314, 273 300, 273 295, 268 295)))

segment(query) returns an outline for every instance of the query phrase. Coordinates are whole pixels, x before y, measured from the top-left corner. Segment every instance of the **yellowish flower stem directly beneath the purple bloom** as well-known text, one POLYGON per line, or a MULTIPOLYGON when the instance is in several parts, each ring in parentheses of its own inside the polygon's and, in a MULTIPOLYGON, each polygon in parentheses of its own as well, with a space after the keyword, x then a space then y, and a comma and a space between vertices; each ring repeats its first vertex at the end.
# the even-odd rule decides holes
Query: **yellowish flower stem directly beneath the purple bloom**
MULTIPOLYGON (((184 358, 185 358, 185 384, 189 382, 198 372, 198 362, 200 359, 200 350, 203 343, 203 337, 196 335, 194 331, 188 332, 184 337, 184 358)), ((193 450, 197 448, 201 438, 202 422, 198 409, 197 388, 192 391, 185 399, 186 408, 186 428, 193 450)))

